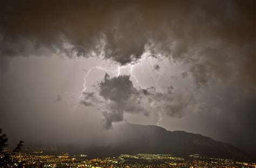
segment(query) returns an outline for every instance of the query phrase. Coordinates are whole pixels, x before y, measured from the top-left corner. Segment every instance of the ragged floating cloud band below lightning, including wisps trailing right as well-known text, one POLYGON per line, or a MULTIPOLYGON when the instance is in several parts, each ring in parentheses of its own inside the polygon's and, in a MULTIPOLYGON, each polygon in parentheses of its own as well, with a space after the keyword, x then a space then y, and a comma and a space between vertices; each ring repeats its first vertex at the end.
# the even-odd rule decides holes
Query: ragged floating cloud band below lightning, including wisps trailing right
POLYGON ((187 111, 202 110, 189 90, 180 91, 173 86, 169 86, 166 93, 156 92, 154 87, 136 89, 129 75, 110 78, 105 74, 104 80, 96 90, 99 90, 99 93, 84 92, 84 100, 80 101, 80 104, 100 107, 105 129, 112 128, 114 122, 123 121, 124 113, 142 113, 149 116, 158 111, 163 115, 179 118, 187 111))

